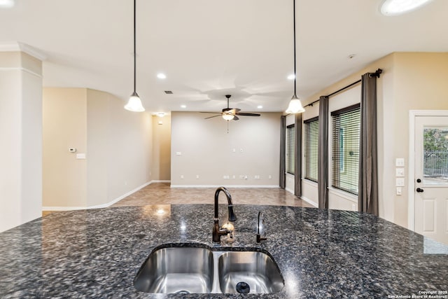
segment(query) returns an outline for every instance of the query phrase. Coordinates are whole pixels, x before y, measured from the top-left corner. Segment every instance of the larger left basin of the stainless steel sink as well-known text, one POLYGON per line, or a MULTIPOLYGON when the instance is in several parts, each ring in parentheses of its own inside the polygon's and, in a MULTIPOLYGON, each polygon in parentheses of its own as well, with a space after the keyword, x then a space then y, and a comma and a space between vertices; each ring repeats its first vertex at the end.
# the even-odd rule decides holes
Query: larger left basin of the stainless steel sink
POLYGON ((134 279, 134 286, 146 293, 210 293, 213 281, 211 250, 166 247, 148 256, 134 279))

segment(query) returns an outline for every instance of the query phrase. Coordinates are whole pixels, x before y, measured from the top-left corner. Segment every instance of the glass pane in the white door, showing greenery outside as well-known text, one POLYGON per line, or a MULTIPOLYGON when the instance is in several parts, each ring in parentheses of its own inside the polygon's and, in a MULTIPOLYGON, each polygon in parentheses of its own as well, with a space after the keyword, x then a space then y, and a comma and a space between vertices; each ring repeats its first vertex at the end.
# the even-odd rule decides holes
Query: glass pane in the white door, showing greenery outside
POLYGON ((423 128, 423 183, 448 183, 448 127, 423 128))

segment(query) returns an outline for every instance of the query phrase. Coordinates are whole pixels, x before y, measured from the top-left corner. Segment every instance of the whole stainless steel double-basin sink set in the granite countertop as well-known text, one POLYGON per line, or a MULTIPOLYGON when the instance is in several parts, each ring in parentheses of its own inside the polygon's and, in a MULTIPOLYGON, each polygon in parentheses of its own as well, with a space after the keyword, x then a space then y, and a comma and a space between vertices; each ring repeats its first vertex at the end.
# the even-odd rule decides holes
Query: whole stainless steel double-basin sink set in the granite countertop
POLYGON ((276 293, 283 285, 267 253, 181 244, 159 246, 134 279, 134 287, 146 293, 276 293))

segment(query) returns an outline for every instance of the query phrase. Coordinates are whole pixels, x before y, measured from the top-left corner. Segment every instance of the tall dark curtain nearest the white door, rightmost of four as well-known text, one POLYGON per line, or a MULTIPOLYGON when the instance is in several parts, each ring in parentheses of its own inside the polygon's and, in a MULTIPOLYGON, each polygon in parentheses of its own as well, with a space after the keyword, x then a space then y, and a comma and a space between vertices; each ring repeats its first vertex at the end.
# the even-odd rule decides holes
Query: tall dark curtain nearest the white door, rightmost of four
POLYGON ((358 211, 378 216, 377 77, 361 78, 358 211))

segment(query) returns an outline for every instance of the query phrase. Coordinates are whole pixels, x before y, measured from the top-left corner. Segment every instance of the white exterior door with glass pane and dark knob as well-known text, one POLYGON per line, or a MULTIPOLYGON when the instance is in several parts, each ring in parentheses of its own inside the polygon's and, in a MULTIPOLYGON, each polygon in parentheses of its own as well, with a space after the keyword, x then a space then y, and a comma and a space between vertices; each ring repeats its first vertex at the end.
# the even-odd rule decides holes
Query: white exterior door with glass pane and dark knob
POLYGON ((415 231, 448 244, 448 116, 415 117, 415 231))

